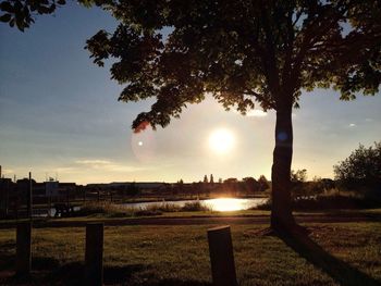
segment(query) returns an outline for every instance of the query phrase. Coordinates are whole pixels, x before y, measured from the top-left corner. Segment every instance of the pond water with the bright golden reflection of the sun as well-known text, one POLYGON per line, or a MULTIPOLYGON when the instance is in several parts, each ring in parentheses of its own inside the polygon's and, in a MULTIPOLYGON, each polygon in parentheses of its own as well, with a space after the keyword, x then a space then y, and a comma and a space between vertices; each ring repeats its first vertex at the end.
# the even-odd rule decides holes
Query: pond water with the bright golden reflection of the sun
MULTIPOLYGON (((267 198, 251 198, 251 199, 237 199, 237 198, 219 198, 199 200, 199 202, 210 207, 213 211, 241 211, 247 210, 258 204, 265 203, 267 198)), ((179 201, 152 201, 152 202, 136 202, 136 203, 123 203, 123 206, 136 209, 147 209, 150 206, 164 206, 174 204, 175 207, 184 207, 187 202, 195 202, 195 200, 179 200, 179 201)))

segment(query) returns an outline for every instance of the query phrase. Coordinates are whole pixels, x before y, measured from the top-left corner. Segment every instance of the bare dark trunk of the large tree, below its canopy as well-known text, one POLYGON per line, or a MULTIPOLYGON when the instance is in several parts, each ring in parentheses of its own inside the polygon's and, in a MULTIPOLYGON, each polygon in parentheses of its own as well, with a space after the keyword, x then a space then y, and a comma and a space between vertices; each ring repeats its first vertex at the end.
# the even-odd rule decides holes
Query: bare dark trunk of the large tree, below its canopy
POLYGON ((271 228, 293 228, 295 220, 291 208, 291 162, 293 157, 292 104, 276 111, 275 148, 271 172, 272 210, 271 228))

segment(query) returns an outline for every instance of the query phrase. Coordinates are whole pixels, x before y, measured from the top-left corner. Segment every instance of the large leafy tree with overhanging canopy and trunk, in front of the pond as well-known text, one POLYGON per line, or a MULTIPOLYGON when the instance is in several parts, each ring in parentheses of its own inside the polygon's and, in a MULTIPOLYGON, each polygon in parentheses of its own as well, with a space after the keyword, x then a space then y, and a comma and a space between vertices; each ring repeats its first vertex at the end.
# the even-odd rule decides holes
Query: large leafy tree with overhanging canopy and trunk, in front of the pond
POLYGON ((275 110, 271 226, 296 226, 290 181, 292 110, 298 107, 302 89, 333 87, 343 100, 378 91, 380 1, 98 0, 96 4, 120 24, 114 33, 100 30, 87 41, 94 62, 102 66, 105 60, 114 59, 112 78, 126 85, 119 100, 157 99, 134 121, 135 132, 167 126, 206 95, 243 114, 255 103, 265 111, 275 110))

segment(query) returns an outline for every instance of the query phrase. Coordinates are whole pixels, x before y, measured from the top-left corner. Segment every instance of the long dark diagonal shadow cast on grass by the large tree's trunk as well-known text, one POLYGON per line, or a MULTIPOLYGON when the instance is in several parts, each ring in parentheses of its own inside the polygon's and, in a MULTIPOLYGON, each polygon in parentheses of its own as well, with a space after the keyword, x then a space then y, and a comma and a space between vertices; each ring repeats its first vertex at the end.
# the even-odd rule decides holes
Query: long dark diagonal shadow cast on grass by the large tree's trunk
POLYGON ((304 233, 279 233, 278 236, 299 256, 343 286, 380 286, 381 283, 333 257, 304 233))

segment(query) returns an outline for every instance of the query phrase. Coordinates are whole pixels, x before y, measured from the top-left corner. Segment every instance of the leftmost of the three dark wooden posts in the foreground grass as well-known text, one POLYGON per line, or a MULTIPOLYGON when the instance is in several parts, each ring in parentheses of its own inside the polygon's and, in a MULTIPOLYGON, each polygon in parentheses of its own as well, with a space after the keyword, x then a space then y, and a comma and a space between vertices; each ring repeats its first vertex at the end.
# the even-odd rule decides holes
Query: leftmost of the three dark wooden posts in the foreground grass
POLYGON ((32 223, 17 223, 16 231, 16 275, 27 276, 32 264, 32 223))

